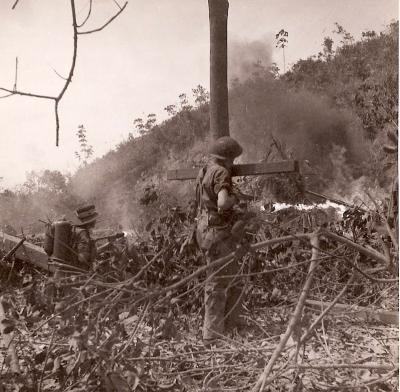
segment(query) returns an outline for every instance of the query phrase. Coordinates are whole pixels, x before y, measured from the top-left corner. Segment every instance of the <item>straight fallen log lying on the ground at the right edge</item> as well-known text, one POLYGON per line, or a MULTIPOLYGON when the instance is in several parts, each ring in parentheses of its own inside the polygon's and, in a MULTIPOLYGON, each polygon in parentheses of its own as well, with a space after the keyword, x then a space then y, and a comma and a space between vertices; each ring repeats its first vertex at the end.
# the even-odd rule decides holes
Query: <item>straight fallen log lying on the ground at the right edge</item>
MULTIPOLYGON (((314 301, 308 299, 306 305, 314 309, 325 309, 330 305, 329 302, 314 301)), ((399 312, 389 310, 372 310, 364 306, 353 306, 346 304, 336 304, 332 309, 332 313, 345 313, 355 318, 361 318, 363 321, 379 322, 383 324, 399 324, 399 312)))

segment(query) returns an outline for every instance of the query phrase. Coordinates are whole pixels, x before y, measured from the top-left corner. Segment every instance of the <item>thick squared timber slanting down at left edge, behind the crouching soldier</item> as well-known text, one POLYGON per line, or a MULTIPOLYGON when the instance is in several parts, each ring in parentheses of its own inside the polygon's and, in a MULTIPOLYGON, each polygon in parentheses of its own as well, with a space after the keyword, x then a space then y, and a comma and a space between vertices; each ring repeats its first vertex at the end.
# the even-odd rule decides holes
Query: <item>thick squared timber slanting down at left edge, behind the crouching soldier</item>
MULTIPOLYGON (((21 241, 21 238, 9 235, 0 231, 0 248, 5 252, 10 251, 21 241)), ((33 264, 46 271, 54 271, 54 267, 49 265, 49 257, 43 248, 37 245, 24 242, 14 254, 15 258, 33 264)))

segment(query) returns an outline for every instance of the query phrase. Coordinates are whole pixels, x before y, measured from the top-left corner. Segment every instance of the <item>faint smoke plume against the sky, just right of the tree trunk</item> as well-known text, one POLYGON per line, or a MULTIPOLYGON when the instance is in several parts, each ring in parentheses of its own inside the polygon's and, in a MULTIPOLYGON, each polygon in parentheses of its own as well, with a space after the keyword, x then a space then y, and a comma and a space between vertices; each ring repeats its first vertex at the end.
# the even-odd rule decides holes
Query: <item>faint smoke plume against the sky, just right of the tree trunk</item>
POLYGON ((228 80, 244 82, 272 64, 272 44, 268 37, 255 41, 234 39, 228 47, 228 80))

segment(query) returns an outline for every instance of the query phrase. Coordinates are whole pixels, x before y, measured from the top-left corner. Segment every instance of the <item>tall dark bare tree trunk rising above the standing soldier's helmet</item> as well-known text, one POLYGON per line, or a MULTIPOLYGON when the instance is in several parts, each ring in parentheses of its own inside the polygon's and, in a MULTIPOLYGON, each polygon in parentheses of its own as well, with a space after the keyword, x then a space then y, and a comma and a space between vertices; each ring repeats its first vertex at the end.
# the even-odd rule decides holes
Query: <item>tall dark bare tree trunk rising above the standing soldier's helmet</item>
POLYGON ((228 0, 208 0, 210 17, 210 130, 229 136, 227 22, 228 0))

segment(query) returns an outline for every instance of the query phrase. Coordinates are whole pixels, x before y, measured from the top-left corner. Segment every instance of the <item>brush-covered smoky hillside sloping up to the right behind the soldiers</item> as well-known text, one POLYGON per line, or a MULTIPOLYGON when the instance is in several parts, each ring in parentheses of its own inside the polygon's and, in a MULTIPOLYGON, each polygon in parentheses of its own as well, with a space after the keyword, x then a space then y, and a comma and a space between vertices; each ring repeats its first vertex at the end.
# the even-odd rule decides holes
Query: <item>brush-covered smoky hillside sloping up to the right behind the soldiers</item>
MULTIPOLYGON (((364 186, 384 194, 391 185, 397 156, 388 157, 383 145, 397 127, 398 23, 366 32, 358 42, 337 27, 336 51, 326 38, 319 54, 282 76, 257 63, 247 78, 233 80, 230 128, 244 146, 242 161, 307 160, 307 187, 351 201, 364 186)), ((135 119, 126 140, 71 178, 31 173, 19 190, 3 191, 1 223, 20 227, 54 218, 85 200, 96 203, 105 226, 137 228, 152 211, 187 203, 193 185, 167 183, 165 173, 204 159, 208 93, 201 86, 192 92, 193 105, 181 94, 161 124, 153 114, 135 119)))

